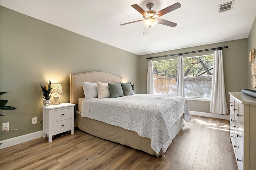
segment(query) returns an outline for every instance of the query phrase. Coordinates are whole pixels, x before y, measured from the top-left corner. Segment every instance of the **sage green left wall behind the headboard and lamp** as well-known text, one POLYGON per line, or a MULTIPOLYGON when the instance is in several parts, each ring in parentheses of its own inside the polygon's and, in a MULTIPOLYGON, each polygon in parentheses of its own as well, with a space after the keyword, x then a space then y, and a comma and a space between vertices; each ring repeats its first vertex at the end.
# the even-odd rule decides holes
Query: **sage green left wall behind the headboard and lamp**
MULTIPOLYGON (((29 129, 2 131, 2 123, 10 129, 32 125, 32 117, 42 119, 42 90, 61 83, 59 102, 69 102, 69 74, 102 70, 134 82, 138 92, 139 56, 78 35, 44 21, 31 18, 1 6, 1 96, 16 110, 1 110, 0 140, 42 130, 42 123, 29 129)), ((114 37, 113 37, 114 38, 114 37)), ((137 91, 136 91, 137 90, 137 91)), ((53 98, 52 98, 53 100, 53 98)))

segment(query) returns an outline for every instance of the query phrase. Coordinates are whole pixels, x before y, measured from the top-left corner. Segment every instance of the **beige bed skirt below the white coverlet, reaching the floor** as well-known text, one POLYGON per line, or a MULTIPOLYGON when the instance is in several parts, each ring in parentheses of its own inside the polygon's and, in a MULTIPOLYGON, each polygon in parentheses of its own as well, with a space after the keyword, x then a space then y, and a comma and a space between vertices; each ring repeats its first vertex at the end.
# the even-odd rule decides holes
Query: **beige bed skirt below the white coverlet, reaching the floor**
MULTIPOLYGON (((169 129, 171 138, 164 144, 163 147, 169 147, 169 145, 172 143, 172 140, 179 133, 183 125, 184 121, 182 115, 180 119, 178 119, 178 121, 176 121, 176 123, 174 123, 174 125, 169 129)), ((156 153, 151 148, 151 139, 141 137, 135 131, 130 131, 122 127, 110 125, 108 123, 97 121, 95 119, 90 119, 88 117, 81 117, 81 113, 79 111, 76 111, 75 127, 78 127, 82 131, 85 131, 86 133, 89 133, 96 137, 100 137, 102 139, 120 143, 134 149, 143 150, 144 152, 152 155, 164 156, 164 154, 161 153, 162 150, 160 153, 156 153)))

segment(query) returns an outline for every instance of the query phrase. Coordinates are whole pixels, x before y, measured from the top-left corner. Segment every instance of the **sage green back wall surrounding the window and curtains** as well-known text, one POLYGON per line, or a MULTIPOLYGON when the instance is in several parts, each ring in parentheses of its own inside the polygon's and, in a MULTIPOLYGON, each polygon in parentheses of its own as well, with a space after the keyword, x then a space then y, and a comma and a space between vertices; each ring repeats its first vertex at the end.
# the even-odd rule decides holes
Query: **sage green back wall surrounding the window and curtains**
MULTIPOLYGON (((166 51, 162 53, 142 55, 140 56, 140 82, 139 82, 140 93, 146 93, 147 71, 148 71, 148 60, 146 60, 146 58, 228 46, 227 49, 223 49, 224 79, 225 79, 225 89, 226 89, 226 100, 228 103, 229 102, 228 92, 240 92, 243 88, 247 88, 248 86, 247 41, 248 39, 246 38, 246 39, 239 39, 234 41, 226 41, 223 43, 213 43, 209 45, 177 49, 177 50, 166 51)), ((207 55, 207 54, 213 54, 213 51, 192 53, 192 54, 183 55, 183 57, 186 58, 186 57, 207 55)), ((178 56, 157 58, 157 59, 153 59, 153 61, 175 59, 175 58, 178 58, 178 56)), ((191 111, 200 111, 200 112, 209 113, 210 102, 187 100, 187 104, 188 104, 188 108, 191 111)))

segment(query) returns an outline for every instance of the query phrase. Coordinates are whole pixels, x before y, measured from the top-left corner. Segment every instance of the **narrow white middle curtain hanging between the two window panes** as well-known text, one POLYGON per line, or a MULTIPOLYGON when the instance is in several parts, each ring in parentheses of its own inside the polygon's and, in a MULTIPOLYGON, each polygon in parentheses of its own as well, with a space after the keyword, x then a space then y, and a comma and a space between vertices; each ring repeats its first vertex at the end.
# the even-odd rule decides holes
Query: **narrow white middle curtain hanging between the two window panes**
POLYGON ((180 55, 178 58, 177 95, 185 98, 183 56, 182 55, 180 55))

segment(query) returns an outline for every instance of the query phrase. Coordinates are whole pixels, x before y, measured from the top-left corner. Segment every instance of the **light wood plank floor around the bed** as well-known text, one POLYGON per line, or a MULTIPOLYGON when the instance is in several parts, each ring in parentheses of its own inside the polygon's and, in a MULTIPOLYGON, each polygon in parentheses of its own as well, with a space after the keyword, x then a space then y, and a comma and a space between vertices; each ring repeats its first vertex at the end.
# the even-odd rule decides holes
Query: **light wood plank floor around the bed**
MULTIPOLYGON (((186 123, 186 122, 185 122, 186 123)), ((193 116, 165 153, 156 157, 75 130, 1 149, 0 169, 236 170, 227 120, 193 116)))

